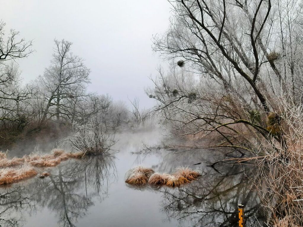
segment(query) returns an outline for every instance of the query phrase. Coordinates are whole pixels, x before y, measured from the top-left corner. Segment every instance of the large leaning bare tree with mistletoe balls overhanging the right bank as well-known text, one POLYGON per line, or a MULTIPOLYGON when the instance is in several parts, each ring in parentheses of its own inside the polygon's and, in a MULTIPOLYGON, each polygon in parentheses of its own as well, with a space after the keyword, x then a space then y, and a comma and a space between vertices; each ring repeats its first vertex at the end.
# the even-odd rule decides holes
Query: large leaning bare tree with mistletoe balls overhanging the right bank
POLYGON ((301 35, 294 31, 301 13, 298 4, 285 1, 285 6, 271 0, 170 2, 171 25, 165 35, 155 37, 154 50, 175 67, 168 75, 160 71, 155 89, 148 90, 160 104, 156 110, 175 122, 182 136, 216 132, 225 140, 220 146, 253 150, 247 135, 254 135, 253 142, 275 141, 287 149, 283 134, 274 132, 268 122, 272 115, 279 115, 276 91, 287 89, 289 81, 294 81, 291 78, 300 77, 299 73, 291 76, 293 70, 287 66, 298 62, 288 56, 302 47, 301 35), (287 7, 298 10, 289 12, 287 7), (279 9, 284 15, 274 13, 279 9), (282 35, 284 43, 275 41, 279 31, 285 35, 281 23, 296 36, 297 46, 285 43, 290 39, 282 35))

